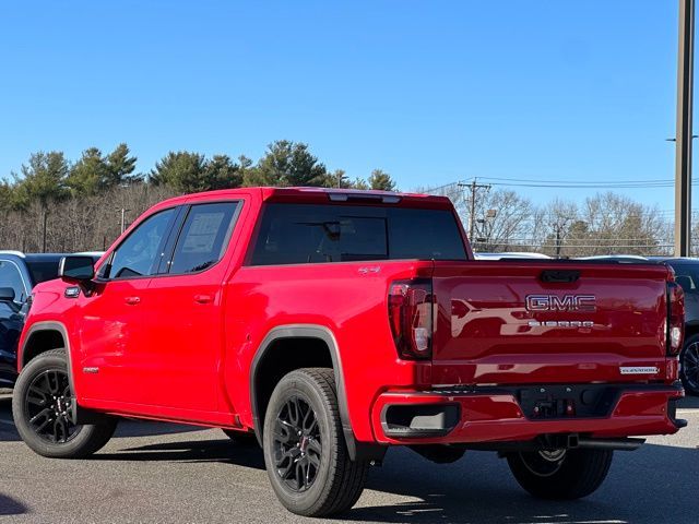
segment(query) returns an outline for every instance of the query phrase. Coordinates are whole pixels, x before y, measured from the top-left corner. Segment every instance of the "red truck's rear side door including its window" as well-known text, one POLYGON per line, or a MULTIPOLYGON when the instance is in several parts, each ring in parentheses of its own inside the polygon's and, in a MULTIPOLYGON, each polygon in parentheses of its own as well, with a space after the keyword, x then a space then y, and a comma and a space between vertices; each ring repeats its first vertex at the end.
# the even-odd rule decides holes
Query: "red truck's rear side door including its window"
POLYGON ((223 259, 240 206, 239 201, 188 206, 165 273, 149 286, 154 310, 146 344, 156 372, 149 379, 147 404, 217 410, 227 270, 223 259))

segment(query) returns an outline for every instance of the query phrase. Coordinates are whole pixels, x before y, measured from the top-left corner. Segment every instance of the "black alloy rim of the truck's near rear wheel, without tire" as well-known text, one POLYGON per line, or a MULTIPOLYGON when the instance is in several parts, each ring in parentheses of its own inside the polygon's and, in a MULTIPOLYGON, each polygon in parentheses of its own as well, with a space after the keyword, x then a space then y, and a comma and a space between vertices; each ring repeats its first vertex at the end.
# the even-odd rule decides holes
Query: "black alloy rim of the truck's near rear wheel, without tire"
POLYGON ((295 492, 309 489, 318 476, 322 457, 322 436, 310 405, 293 396, 276 415, 274 465, 284 484, 295 492))

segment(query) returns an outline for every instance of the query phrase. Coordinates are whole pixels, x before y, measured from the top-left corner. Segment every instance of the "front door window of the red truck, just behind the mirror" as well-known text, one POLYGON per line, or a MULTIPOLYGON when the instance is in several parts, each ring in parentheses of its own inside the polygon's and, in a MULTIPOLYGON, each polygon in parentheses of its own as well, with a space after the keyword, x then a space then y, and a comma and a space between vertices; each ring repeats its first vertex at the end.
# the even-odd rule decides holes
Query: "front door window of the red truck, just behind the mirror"
POLYGON ((129 278, 155 273, 174 218, 173 209, 161 211, 141 223, 114 252, 103 276, 129 278))

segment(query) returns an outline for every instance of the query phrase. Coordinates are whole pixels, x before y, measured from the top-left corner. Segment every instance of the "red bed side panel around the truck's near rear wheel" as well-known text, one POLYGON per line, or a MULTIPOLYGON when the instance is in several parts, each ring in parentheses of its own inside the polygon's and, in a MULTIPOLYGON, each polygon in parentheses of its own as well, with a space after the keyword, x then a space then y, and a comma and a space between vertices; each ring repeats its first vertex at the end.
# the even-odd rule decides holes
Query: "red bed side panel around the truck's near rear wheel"
POLYGON ((266 334, 315 324, 335 337, 353 430, 371 440, 369 410, 380 392, 430 382, 429 364, 398 358, 387 313, 391 281, 430 272, 431 262, 417 261, 241 267, 226 290, 225 382, 239 384, 229 393, 244 424, 252 425, 249 372, 266 334))

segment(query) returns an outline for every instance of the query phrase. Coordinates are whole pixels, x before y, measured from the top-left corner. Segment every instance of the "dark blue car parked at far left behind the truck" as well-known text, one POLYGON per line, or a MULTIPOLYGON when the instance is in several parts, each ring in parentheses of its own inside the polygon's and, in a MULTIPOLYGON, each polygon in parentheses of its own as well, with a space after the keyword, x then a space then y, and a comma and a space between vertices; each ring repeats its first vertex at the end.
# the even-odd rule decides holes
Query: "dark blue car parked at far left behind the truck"
MULTIPOLYGON (((86 253, 96 261, 100 253, 86 253)), ((11 388, 17 376, 17 340, 24 326, 32 289, 58 276, 64 254, 25 254, 0 251, 0 388, 11 388)))

